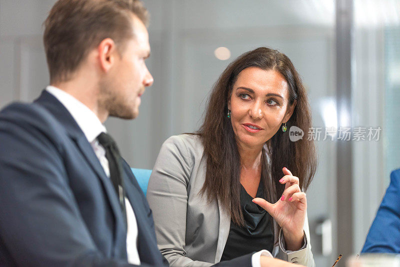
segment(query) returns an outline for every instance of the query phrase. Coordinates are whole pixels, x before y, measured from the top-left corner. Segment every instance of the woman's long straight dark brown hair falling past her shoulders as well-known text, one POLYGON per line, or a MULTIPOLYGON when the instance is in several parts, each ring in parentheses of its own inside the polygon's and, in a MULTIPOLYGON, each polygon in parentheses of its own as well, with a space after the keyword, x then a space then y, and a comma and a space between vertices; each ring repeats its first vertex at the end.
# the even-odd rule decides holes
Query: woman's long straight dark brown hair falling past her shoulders
MULTIPOLYGON (((287 121, 287 128, 295 125, 308 132, 311 127, 305 88, 290 59, 283 53, 259 47, 237 57, 222 72, 212 88, 203 124, 197 131, 207 160, 205 181, 200 193, 206 193, 209 201, 219 200, 237 225, 244 224, 240 208, 241 160, 232 124, 226 114, 232 86, 240 71, 247 67, 276 70, 282 74, 288 83, 289 103, 292 104, 294 100, 297 102, 287 121)), ((265 143, 261 153, 261 182, 266 200, 272 203, 278 200, 284 189, 284 185, 279 183, 283 176, 282 167, 287 167, 293 175, 298 176, 303 191, 315 173, 314 143, 307 138, 292 142, 288 134, 289 131, 278 130, 265 143)))

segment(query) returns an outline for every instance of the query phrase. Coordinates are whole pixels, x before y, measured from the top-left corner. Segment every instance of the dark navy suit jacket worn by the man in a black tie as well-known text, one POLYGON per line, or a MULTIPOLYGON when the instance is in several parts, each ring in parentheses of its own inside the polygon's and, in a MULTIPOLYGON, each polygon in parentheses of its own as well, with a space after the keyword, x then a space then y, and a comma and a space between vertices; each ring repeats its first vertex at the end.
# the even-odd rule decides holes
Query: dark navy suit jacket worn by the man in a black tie
MULTIPOLYGON (((126 162, 123 169, 141 265, 163 266, 151 210, 126 162)), ((250 257, 217 265, 250 266, 250 257)), ((112 183, 47 91, 0 112, 0 266, 130 266, 112 183)))

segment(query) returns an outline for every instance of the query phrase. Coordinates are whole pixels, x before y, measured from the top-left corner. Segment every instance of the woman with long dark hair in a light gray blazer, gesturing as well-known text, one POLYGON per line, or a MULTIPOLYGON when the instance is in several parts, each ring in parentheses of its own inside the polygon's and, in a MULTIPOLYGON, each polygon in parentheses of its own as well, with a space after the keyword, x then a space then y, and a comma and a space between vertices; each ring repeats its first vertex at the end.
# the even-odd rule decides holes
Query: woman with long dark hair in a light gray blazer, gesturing
POLYGON ((292 125, 306 130, 311 117, 284 54, 260 47, 227 66, 200 129, 168 138, 150 176, 158 248, 171 266, 209 266, 261 249, 314 265, 303 191, 316 154, 306 138, 289 140, 292 125))

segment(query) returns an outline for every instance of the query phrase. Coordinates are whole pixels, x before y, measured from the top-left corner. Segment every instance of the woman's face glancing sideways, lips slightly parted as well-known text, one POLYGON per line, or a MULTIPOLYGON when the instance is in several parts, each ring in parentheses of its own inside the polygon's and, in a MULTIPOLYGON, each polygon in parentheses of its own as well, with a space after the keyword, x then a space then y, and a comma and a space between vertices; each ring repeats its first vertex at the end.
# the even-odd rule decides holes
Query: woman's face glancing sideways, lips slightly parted
POLYGON ((288 84, 275 70, 248 67, 233 84, 228 108, 236 141, 240 146, 259 148, 293 113, 288 84))

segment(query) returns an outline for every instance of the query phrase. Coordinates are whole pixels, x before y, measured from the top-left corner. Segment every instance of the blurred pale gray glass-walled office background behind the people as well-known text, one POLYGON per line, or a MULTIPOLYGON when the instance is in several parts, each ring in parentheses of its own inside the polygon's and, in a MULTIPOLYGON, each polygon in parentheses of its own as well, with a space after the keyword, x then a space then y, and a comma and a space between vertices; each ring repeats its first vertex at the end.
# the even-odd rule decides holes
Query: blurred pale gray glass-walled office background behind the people
MULTIPOLYGON (((106 122, 128 163, 152 168, 167 137, 196 130, 212 84, 233 58, 277 48, 302 75, 321 129, 307 192, 316 266, 359 252, 389 171, 400 167, 400 1, 143 1, 154 84, 137 119, 106 122), (334 130, 325 137, 340 127, 352 127, 350 140, 334 130), (365 140, 352 140, 357 127, 365 140), (369 127, 380 127, 379 136, 368 140, 369 127)), ((0 107, 30 101, 48 84, 42 22, 54 2, 0 0, 0 107)))

